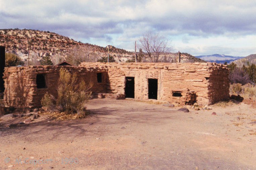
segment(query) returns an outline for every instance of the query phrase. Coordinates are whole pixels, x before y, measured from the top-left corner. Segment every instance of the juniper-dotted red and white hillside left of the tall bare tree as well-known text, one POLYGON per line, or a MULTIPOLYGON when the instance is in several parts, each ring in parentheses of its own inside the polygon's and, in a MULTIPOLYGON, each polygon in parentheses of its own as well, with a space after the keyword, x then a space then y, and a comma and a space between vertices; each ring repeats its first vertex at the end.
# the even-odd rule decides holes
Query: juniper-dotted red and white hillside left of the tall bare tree
MULTIPOLYGON (((34 57, 38 61, 45 55, 51 58, 55 55, 66 57, 69 50, 75 47, 87 48, 90 53, 97 55, 97 58, 107 56, 108 52, 107 47, 84 44, 54 32, 18 28, 0 29, 0 45, 5 46, 6 52, 20 56, 23 61, 28 60, 29 53, 30 60, 34 57)), ((132 52, 113 46, 109 47, 109 54, 118 61, 126 61, 126 58, 133 56, 132 52)))

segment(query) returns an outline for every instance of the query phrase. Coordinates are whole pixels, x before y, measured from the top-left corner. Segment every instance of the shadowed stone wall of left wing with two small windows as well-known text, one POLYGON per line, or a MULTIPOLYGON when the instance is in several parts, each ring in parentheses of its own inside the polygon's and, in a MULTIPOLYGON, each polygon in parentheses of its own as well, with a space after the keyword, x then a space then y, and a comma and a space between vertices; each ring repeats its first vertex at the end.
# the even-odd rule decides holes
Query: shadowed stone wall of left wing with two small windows
POLYGON ((57 95, 59 69, 76 72, 78 80, 93 82, 93 91, 106 92, 107 73, 100 68, 82 68, 72 66, 27 66, 6 67, 4 71, 4 105, 14 107, 37 107, 46 92, 57 95), (97 73, 102 73, 102 83, 97 82, 97 73), (45 77, 46 87, 37 88, 36 76, 45 77))

